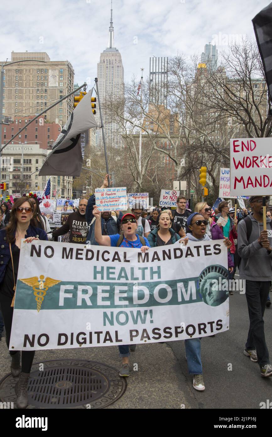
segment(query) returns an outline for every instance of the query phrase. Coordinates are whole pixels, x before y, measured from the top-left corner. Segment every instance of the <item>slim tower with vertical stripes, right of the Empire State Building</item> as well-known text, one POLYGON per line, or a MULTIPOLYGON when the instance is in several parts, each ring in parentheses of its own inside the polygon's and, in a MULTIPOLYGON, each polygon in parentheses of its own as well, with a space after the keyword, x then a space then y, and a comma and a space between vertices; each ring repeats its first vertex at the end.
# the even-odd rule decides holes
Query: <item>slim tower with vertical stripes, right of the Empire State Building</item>
POLYGON ((167 108, 168 58, 149 58, 149 101, 167 108))

